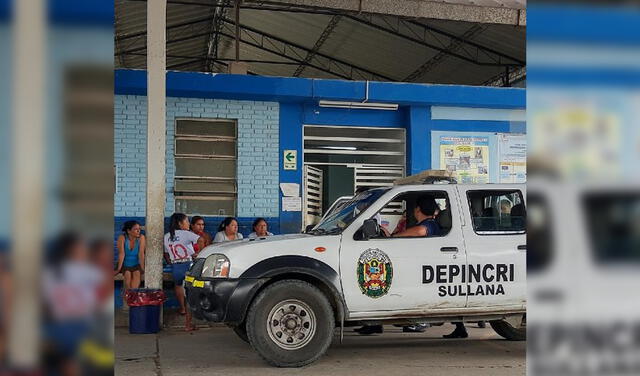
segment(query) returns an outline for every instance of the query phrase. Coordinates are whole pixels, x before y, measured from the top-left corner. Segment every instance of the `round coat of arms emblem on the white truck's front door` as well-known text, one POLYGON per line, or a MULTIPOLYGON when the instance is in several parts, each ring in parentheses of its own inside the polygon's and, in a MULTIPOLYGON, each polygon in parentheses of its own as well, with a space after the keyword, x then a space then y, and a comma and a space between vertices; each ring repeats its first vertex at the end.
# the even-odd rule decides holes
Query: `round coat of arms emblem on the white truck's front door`
POLYGON ((386 253, 369 248, 358 259, 357 273, 360 291, 370 298, 379 298, 391 287, 393 265, 386 253))

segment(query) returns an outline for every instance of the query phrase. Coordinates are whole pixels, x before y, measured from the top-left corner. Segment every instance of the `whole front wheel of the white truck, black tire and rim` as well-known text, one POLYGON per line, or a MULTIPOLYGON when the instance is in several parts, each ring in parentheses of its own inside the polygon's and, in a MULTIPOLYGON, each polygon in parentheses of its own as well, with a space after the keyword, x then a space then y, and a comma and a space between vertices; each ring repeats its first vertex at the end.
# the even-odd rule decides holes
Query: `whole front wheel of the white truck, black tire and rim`
POLYGON ((267 363, 302 367, 327 351, 335 320, 331 304, 320 289, 304 281, 283 280, 265 288, 253 301, 246 328, 249 343, 267 363), (292 342, 285 343, 288 341, 292 342), (300 347, 285 348, 294 346, 300 347))

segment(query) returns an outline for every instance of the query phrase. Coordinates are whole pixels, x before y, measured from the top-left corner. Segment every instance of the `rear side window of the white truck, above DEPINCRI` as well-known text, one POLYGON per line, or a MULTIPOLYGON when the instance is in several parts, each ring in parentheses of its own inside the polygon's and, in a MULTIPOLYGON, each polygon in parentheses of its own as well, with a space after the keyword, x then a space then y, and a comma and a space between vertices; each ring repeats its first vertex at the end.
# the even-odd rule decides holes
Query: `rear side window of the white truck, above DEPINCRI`
POLYGON ((468 191, 473 229, 478 235, 523 234, 526 208, 519 190, 468 191))

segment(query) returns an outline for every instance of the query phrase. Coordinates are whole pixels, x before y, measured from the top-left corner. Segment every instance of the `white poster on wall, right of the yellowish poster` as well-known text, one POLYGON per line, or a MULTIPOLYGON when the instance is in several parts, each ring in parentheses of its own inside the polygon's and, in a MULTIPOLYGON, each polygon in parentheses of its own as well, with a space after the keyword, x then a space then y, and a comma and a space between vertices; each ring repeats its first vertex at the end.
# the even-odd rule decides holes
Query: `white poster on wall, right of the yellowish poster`
POLYGON ((527 181, 527 136, 498 133, 500 183, 527 181))

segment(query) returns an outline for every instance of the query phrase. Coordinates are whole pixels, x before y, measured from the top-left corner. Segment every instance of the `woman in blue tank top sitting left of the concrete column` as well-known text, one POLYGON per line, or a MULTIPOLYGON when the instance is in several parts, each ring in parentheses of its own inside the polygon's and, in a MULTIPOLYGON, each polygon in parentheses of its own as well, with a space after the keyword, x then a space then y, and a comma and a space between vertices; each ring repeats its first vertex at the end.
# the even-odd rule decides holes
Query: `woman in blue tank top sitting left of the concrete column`
POLYGON ((126 221, 122 226, 122 234, 118 237, 118 268, 115 272, 122 272, 125 290, 140 287, 146 246, 147 240, 140 233, 140 223, 126 221))

